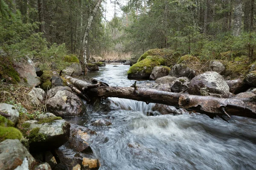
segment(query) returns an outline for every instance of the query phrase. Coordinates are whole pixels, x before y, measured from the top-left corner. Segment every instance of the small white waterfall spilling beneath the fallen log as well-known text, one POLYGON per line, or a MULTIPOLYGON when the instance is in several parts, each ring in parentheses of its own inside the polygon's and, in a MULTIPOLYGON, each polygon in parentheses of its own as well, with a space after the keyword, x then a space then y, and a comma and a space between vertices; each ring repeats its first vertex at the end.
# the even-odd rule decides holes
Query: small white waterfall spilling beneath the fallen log
POLYGON ((110 97, 113 101, 111 105, 111 110, 126 110, 126 111, 141 111, 144 114, 153 113, 159 114, 157 111, 153 111, 152 108, 155 106, 155 103, 149 103, 148 105, 145 102, 140 102, 131 99, 121 99, 117 97, 110 97))

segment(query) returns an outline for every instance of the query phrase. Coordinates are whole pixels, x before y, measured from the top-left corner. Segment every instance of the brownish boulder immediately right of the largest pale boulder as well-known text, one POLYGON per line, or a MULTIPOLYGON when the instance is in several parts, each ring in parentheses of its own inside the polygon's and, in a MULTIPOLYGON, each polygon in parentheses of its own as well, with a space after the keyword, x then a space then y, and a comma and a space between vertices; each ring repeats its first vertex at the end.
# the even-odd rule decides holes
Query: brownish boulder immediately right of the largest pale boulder
POLYGON ((242 79, 227 80, 226 83, 233 94, 239 94, 249 88, 242 79))

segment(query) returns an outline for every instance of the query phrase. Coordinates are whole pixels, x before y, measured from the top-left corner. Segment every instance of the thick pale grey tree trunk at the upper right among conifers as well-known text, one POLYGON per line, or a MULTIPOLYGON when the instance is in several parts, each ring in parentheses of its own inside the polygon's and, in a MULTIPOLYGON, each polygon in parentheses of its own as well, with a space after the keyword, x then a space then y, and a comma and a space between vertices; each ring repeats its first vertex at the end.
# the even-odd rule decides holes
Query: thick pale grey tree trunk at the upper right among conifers
POLYGON ((242 12, 241 0, 235 0, 233 36, 239 36, 241 34, 242 12))

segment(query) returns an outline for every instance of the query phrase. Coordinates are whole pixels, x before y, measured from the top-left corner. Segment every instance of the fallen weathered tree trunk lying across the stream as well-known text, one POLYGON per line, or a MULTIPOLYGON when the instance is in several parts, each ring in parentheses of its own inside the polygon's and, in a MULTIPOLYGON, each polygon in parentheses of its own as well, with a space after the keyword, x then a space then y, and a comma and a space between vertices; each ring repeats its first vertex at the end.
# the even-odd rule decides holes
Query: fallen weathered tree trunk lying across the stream
MULTIPOLYGON (((217 98, 212 96, 196 96, 182 93, 172 93, 149 88, 135 87, 110 87, 110 86, 88 86, 84 88, 81 80, 68 79, 79 90, 99 97, 119 97, 133 99, 146 103, 160 103, 185 108, 190 111, 204 113, 213 118, 214 116, 235 115, 256 119, 256 99, 253 98, 217 98), (79 83, 78 83, 79 82, 79 83), (91 88, 88 88, 91 87, 91 88)), ((95 86, 95 85, 94 85, 95 86)), ((88 96, 90 96, 88 95, 88 96)), ((229 116, 230 117, 230 116, 229 116)))

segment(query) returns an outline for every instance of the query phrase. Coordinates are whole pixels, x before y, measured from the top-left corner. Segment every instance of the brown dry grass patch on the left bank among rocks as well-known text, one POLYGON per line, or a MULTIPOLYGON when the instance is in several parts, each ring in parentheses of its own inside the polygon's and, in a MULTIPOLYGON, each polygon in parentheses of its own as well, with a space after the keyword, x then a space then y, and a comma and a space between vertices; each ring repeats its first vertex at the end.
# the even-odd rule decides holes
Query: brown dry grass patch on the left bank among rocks
POLYGON ((32 88, 27 88, 23 85, 12 85, 0 82, 0 103, 22 105, 23 108, 26 108, 28 113, 47 111, 45 102, 40 102, 38 106, 31 105, 28 95, 31 89, 32 88))

